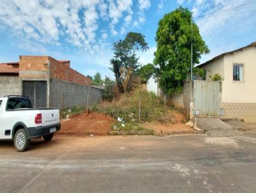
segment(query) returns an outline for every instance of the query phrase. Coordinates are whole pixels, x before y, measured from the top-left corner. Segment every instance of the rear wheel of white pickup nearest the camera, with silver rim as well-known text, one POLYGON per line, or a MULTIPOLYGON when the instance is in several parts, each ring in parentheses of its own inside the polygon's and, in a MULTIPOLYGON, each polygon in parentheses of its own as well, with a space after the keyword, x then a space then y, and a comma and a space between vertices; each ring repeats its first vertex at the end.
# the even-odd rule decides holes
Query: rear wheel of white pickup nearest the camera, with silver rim
POLYGON ((29 147, 30 140, 24 128, 20 128, 14 135, 14 147, 17 151, 26 151, 29 147))

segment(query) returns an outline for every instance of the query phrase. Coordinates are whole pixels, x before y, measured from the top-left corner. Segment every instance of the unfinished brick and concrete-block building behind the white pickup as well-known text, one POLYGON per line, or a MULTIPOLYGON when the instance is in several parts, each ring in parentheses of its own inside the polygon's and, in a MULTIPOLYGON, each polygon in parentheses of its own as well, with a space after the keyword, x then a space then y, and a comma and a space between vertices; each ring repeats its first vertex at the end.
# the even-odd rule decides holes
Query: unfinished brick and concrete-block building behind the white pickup
POLYGON ((50 56, 20 56, 19 62, 0 64, 0 97, 29 96, 34 107, 73 107, 99 102, 102 89, 70 68, 70 61, 50 56))

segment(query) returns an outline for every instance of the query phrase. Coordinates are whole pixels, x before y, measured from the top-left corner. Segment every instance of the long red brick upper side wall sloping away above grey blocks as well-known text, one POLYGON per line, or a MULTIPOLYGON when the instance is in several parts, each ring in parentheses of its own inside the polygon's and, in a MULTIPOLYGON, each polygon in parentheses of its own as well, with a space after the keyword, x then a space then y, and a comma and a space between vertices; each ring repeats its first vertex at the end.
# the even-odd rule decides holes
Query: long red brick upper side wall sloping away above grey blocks
POLYGON ((83 74, 69 68, 67 65, 54 58, 49 57, 49 59, 51 61, 51 78, 86 86, 92 85, 92 81, 88 77, 85 77, 83 74))

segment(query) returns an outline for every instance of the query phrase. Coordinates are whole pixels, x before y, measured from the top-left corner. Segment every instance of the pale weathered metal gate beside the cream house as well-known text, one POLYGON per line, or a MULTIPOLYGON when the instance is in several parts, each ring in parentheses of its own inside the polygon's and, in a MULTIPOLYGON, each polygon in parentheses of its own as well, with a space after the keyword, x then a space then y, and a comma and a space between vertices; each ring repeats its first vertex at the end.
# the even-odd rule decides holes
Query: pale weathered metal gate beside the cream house
POLYGON ((202 117, 219 116, 221 82, 194 81, 195 110, 200 110, 202 117))

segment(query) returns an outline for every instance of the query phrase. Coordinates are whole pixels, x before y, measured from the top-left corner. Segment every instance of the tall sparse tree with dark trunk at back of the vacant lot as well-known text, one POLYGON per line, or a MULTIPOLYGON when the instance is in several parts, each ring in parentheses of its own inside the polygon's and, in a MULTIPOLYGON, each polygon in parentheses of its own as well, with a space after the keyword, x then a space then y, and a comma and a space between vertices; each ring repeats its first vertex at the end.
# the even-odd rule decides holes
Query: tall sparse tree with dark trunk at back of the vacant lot
POLYGON ((136 52, 144 52, 148 50, 148 44, 145 41, 145 36, 141 33, 129 32, 124 40, 118 40, 113 44, 114 58, 111 59, 111 65, 116 77, 116 84, 120 93, 131 89, 131 77, 134 70, 140 66, 139 57, 136 52), (122 85, 123 82, 129 82, 126 88, 122 85))

